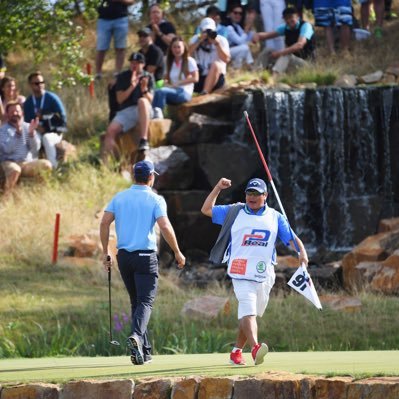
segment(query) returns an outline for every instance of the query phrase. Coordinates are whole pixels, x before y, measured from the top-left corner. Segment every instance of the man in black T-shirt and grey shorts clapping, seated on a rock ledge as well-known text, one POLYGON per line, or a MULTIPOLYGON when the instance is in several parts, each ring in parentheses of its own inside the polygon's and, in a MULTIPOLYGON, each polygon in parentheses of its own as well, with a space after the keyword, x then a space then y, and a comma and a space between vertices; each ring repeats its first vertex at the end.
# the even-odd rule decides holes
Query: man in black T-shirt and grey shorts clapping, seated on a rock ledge
POLYGON ((149 149, 148 128, 152 116, 153 78, 144 70, 145 58, 141 53, 129 57, 130 69, 118 75, 115 84, 119 111, 107 128, 104 138, 103 160, 115 150, 115 138, 139 124, 139 151, 149 149))

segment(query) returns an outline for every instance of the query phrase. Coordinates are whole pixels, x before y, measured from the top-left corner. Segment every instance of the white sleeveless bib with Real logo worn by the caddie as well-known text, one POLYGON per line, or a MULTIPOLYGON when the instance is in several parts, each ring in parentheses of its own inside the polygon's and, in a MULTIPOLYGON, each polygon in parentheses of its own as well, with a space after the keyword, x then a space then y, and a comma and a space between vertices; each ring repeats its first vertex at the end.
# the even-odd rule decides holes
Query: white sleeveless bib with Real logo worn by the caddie
POLYGON ((273 208, 263 215, 249 215, 242 209, 231 227, 231 253, 227 273, 231 278, 274 283, 272 264, 278 219, 273 208))

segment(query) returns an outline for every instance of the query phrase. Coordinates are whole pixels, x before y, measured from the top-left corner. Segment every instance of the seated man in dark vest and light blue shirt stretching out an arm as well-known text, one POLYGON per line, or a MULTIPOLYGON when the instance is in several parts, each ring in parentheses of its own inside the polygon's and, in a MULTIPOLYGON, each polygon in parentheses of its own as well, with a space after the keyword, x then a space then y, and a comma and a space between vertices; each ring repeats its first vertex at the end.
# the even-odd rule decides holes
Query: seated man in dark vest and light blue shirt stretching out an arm
POLYGON ((254 35, 254 41, 268 40, 277 36, 285 37, 285 48, 271 51, 267 47, 259 55, 258 64, 266 68, 274 62, 272 71, 276 74, 297 69, 307 64, 315 56, 314 30, 309 22, 301 21, 297 10, 288 7, 283 11, 284 25, 274 32, 259 32, 254 35))

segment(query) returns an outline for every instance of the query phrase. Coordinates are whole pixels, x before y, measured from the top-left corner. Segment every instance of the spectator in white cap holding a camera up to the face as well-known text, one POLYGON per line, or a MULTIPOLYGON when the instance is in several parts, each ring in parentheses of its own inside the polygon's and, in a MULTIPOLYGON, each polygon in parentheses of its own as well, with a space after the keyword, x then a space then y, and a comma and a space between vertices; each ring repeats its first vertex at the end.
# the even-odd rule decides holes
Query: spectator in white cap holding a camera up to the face
POLYGON ((194 35, 190 39, 189 54, 197 61, 200 75, 194 91, 207 94, 224 86, 230 49, 227 39, 218 36, 212 18, 204 18, 200 30, 201 34, 194 35))

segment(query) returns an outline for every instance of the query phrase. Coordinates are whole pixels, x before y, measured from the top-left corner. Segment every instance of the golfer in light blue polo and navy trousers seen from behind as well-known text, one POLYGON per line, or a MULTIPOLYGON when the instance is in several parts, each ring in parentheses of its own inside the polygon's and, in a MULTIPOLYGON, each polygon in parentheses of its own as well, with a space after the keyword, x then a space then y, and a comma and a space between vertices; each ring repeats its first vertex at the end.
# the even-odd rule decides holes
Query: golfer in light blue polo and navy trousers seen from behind
POLYGON ((155 174, 151 161, 137 162, 133 166, 135 183, 111 199, 100 224, 103 265, 108 271, 113 266, 108 249, 109 232, 111 223, 115 221, 118 268, 132 307, 131 335, 127 338, 127 346, 135 365, 152 360, 147 326, 158 283, 155 223, 174 252, 178 267, 183 268, 186 262, 167 216, 166 202, 152 191, 155 174))

